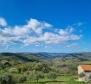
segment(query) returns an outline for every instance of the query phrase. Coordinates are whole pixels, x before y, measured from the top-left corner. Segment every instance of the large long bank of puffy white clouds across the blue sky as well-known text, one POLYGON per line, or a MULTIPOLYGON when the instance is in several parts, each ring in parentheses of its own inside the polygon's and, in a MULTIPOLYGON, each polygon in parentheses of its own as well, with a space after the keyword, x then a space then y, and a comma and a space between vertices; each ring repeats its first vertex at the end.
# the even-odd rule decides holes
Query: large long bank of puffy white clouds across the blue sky
POLYGON ((61 42, 77 41, 81 35, 75 34, 74 27, 54 28, 45 21, 30 19, 25 25, 7 26, 5 19, 0 19, 0 44, 22 44, 28 46, 35 44, 59 44, 61 42), (2 28, 2 26, 4 28, 2 28), (53 31, 46 31, 52 29, 53 31), (57 30, 57 31, 56 31, 57 30))

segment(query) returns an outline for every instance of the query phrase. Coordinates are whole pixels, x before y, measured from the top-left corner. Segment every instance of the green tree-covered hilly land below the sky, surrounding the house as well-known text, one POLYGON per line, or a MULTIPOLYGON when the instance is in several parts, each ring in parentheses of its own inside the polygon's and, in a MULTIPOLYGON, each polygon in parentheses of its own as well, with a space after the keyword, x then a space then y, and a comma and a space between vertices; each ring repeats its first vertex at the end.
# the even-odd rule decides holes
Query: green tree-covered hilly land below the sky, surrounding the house
POLYGON ((0 84, 91 84, 77 81, 79 64, 91 53, 1 53, 0 84))

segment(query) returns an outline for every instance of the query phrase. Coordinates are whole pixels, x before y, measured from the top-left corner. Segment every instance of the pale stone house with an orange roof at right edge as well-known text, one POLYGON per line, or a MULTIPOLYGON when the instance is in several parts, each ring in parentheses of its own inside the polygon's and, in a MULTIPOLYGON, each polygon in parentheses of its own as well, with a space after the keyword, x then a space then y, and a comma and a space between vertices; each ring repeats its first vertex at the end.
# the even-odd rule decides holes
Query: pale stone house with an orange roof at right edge
POLYGON ((78 79, 85 82, 91 80, 91 65, 78 66, 78 79))

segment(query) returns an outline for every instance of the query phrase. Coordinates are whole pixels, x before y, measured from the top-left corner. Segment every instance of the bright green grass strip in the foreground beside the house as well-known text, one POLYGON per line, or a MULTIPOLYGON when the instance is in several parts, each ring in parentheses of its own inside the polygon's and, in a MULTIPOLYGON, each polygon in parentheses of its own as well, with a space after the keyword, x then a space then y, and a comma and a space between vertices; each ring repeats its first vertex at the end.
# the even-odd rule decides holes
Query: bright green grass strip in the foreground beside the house
POLYGON ((55 80, 45 78, 40 79, 38 83, 36 81, 27 81, 24 84, 91 84, 91 82, 78 82, 72 75, 62 75, 58 76, 55 80))

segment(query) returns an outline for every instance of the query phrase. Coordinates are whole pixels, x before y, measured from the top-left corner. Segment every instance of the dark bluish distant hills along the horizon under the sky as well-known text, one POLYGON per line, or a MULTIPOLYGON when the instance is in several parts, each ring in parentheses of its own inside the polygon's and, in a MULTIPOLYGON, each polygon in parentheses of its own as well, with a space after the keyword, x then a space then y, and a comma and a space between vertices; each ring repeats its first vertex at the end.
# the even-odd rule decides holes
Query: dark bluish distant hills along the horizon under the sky
POLYGON ((41 61, 51 60, 55 58, 72 60, 78 59, 81 61, 91 60, 91 52, 83 53, 0 53, 0 59, 15 59, 20 61, 41 61))

